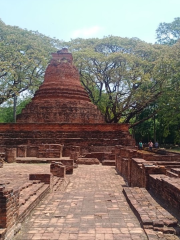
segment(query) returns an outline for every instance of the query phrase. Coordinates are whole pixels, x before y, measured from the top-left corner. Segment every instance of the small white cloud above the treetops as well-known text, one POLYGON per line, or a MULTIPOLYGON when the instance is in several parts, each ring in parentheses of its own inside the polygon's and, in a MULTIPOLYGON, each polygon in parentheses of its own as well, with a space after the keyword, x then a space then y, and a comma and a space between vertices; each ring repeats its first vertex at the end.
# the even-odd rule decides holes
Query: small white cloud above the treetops
POLYGON ((95 37, 101 30, 99 26, 93 26, 90 28, 77 29, 72 32, 72 38, 90 38, 95 37))

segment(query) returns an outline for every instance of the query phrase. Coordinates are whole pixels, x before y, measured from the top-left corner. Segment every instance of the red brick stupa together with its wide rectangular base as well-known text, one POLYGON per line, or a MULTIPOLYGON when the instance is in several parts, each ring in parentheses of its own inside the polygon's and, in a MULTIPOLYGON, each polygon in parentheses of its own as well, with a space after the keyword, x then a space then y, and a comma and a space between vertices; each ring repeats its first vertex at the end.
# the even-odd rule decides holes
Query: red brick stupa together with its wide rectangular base
POLYGON ((119 144, 134 146, 128 124, 104 122, 82 87, 72 60, 67 49, 52 54, 44 82, 17 116, 17 123, 0 124, 1 147, 27 146, 26 157, 38 157, 39 150, 32 153, 32 146, 40 149, 42 144, 61 144, 64 145, 62 156, 70 156, 76 146, 81 155, 111 152, 119 144))

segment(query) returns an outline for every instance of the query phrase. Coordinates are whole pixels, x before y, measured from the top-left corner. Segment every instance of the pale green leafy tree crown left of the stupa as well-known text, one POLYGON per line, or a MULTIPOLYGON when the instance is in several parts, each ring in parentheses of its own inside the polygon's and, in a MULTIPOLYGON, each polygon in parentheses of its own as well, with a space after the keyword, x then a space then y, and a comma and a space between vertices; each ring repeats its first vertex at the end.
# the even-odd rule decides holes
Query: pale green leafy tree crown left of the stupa
POLYGON ((23 91, 34 91, 61 42, 0 20, 0 104, 23 91))

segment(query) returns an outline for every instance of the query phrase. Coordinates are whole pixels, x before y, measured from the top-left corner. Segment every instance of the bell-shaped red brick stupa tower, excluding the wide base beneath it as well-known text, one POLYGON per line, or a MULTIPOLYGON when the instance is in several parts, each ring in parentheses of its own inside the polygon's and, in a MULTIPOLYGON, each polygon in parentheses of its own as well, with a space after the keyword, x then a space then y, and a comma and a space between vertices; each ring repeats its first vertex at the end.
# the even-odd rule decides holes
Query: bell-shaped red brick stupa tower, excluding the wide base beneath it
POLYGON ((66 48, 52 53, 44 82, 18 115, 19 123, 104 123, 80 83, 73 57, 66 48))

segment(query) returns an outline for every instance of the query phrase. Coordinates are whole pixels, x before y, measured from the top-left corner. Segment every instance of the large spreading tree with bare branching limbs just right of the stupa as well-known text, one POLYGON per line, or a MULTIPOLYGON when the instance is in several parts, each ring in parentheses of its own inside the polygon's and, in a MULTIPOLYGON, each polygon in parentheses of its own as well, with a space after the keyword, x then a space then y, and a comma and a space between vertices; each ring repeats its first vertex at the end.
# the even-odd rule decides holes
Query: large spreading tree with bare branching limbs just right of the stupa
MULTIPOLYGON (((98 105, 106 94, 103 108, 106 122, 130 123, 157 100, 166 86, 167 46, 113 36, 75 39, 67 45, 92 101, 98 105)), ((156 110, 141 122, 154 114, 156 110)))

